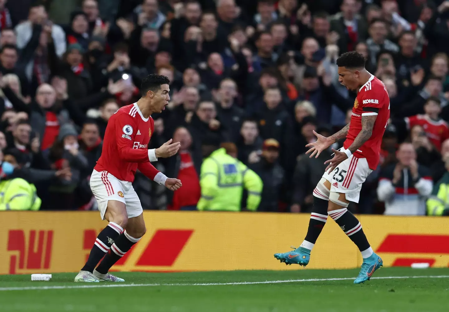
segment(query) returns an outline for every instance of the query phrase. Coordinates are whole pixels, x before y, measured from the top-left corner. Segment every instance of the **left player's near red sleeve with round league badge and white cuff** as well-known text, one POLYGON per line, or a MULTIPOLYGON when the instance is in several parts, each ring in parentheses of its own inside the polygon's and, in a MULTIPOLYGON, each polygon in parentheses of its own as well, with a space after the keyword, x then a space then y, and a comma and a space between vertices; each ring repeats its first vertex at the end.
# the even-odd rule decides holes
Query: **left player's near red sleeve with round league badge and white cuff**
POLYGON ((122 113, 115 118, 114 123, 118 156, 121 160, 137 163, 154 160, 154 150, 132 148, 136 136, 136 121, 131 115, 122 113))

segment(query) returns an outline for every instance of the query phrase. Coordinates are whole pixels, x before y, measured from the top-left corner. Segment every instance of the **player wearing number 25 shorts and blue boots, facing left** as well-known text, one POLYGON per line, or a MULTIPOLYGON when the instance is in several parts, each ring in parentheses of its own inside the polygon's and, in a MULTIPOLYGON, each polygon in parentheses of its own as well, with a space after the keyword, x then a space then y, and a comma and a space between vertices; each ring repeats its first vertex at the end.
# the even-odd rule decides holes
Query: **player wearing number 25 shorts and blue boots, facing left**
POLYGON ((335 156, 325 162, 328 164, 326 171, 313 191, 313 209, 304 242, 294 251, 274 256, 286 264, 306 266, 329 216, 361 251, 363 264, 354 280, 359 284, 369 280, 383 262, 371 249, 360 222, 347 207, 350 201, 358 203, 362 183, 379 163, 380 144, 390 118, 390 99, 383 82, 366 71, 360 53, 342 54, 337 65, 339 82, 349 90, 357 91, 351 121, 327 138, 314 131, 317 141, 306 145, 311 147, 307 153, 317 157, 337 140, 344 137, 346 140, 340 151, 332 149, 335 156))

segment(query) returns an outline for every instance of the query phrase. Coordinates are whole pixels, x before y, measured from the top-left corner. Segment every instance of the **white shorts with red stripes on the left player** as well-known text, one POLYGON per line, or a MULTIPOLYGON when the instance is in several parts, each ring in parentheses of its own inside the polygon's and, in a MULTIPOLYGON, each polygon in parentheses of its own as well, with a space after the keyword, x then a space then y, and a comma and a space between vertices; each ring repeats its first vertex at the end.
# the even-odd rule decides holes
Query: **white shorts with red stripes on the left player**
POLYGON ((105 212, 108 201, 118 200, 126 205, 128 218, 140 216, 143 212, 142 205, 132 183, 121 181, 107 171, 93 170, 90 176, 90 189, 97 199, 101 220, 105 220, 105 212))

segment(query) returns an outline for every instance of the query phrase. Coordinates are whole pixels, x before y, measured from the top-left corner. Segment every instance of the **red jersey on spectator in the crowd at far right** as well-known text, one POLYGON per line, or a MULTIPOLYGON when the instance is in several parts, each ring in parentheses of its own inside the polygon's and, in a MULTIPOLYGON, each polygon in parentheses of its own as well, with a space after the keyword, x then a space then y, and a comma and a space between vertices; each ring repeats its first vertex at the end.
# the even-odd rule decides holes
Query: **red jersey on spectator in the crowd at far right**
POLYGON ((416 115, 411 117, 405 117, 405 122, 409 129, 413 126, 422 126, 427 134, 429 141, 435 145, 438 151, 441 149, 441 144, 449 139, 448 124, 440 119, 439 121, 431 120, 427 115, 416 115))

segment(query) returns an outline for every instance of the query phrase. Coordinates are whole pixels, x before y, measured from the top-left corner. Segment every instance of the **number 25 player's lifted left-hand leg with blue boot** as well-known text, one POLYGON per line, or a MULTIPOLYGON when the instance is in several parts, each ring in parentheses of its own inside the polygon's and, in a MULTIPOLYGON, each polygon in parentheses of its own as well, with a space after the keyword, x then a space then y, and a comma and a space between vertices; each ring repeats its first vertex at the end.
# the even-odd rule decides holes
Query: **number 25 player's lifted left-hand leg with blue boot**
POLYGON ((318 236, 326 225, 327 208, 330 193, 330 182, 321 178, 313 190, 313 208, 310 214, 308 230, 303 243, 299 248, 284 253, 277 253, 274 257, 285 264, 299 264, 306 266, 310 260, 310 253, 317 242, 318 236))

